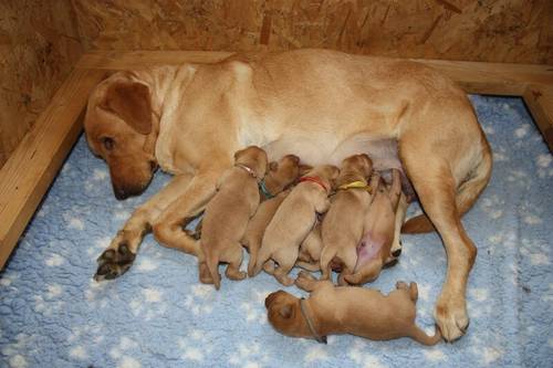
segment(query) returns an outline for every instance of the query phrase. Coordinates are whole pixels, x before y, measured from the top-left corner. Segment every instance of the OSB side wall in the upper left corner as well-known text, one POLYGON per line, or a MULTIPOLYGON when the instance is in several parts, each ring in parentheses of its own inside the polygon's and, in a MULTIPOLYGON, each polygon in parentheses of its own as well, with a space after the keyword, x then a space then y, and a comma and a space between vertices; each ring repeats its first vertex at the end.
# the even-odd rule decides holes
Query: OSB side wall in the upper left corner
POLYGON ((81 54, 71 0, 0 1, 0 167, 81 54))

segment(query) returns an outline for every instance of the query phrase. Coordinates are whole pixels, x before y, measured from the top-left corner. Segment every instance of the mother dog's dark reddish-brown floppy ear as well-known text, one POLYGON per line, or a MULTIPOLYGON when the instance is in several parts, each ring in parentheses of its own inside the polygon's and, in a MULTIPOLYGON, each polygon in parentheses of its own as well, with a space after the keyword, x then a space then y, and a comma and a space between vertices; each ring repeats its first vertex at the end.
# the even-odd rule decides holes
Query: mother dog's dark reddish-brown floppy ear
POLYGON ((152 101, 148 86, 138 82, 114 82, 101 107, 119 116, 139 134, 152 133, 152 101))

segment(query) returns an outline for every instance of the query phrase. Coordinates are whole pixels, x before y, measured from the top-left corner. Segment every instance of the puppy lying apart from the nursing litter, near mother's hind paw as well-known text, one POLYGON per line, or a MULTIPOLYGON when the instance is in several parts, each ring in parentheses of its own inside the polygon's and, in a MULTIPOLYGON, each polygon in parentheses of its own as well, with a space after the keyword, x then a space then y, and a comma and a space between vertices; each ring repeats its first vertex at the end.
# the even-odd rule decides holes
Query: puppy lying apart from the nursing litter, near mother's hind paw
POLYGON ((403 282, 383 295, 376 290, 335 287, 300 273, 296 285, 312 292, 309 299, 278 291, 265 298, 268 318, 274 329, 291 337, 314 338, 326 344, 326 335, 352 334, 373 340, 410 337, 424 345, 441 340, 439 330, 428 336, 415 324, 417 284, 403 282))

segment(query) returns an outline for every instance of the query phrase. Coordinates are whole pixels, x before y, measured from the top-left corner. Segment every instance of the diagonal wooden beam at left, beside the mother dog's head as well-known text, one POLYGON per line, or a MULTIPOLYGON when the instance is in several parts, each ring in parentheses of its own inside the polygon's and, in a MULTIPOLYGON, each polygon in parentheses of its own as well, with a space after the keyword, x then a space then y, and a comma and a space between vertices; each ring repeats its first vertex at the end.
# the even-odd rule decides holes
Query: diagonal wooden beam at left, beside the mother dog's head
POLYGON ((79 116, 104 76, 72 72, 0 170, 0 269, 82 130, 79 116))

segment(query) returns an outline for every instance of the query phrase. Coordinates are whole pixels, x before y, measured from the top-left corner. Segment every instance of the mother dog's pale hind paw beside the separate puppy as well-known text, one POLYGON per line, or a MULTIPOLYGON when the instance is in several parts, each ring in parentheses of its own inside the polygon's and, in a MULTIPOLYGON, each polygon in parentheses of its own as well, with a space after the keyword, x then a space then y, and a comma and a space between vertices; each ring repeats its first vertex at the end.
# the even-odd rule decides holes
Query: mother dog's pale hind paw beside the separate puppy
POLYGON ((444 291, 438 298, 434 317, 448 343, 465 335, 470 323, 465 297, 447 291, 444 291))

